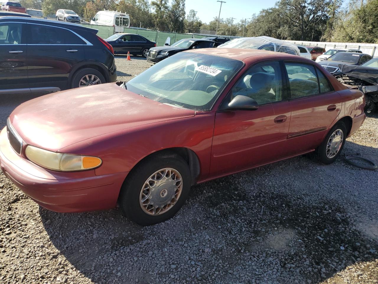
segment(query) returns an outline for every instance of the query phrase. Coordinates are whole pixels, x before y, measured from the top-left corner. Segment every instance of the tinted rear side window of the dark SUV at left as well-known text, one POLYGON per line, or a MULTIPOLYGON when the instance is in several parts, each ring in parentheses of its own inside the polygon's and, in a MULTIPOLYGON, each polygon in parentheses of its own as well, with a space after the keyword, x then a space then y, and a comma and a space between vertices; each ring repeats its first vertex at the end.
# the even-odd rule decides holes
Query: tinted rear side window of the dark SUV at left
POLYGON ((30 25, 28 44, 85 44, 69 30, 45 25, 30 25))

